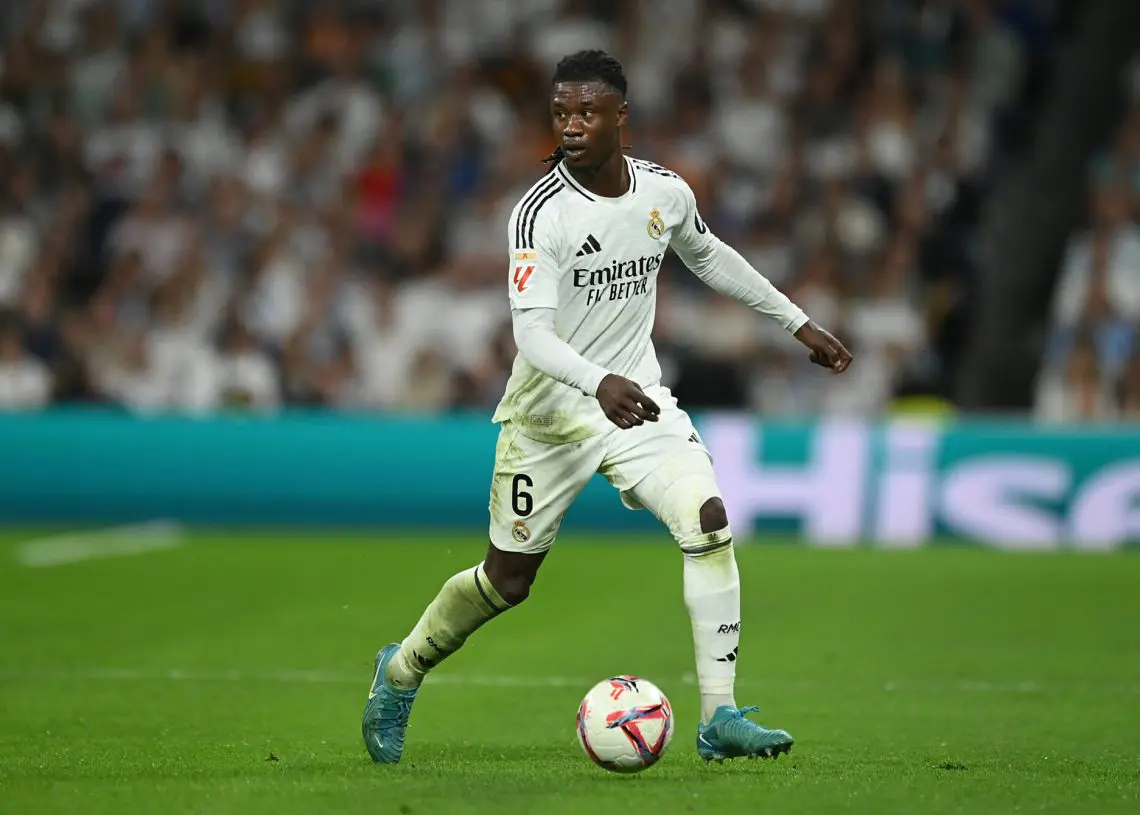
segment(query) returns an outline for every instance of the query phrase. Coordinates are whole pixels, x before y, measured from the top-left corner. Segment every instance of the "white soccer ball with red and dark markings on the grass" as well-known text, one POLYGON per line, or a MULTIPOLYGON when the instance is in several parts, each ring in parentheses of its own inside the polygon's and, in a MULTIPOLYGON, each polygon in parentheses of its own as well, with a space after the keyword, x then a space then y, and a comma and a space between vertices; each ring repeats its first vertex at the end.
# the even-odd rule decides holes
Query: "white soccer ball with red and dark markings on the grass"
POLYGON ((578 741, 600 767, 640 773, 673 740, 673 708, 649 679, 614 676, 594 685, 578 706, 578 741))

